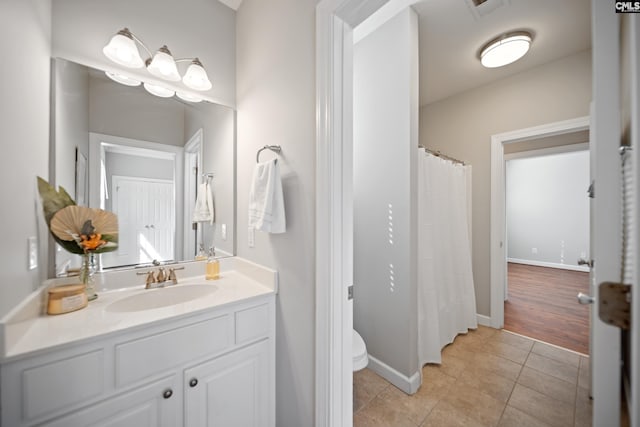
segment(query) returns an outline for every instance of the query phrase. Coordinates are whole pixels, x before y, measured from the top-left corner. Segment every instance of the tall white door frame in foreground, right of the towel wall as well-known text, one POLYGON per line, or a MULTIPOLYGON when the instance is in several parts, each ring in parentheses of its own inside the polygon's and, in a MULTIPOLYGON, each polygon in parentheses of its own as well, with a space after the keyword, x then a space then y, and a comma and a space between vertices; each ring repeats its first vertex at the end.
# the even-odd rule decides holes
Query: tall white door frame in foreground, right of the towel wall
MULTIPOLYGON (((407 0, 321 0, 316 5, 315 423, 353 423, 353 28, 407 0), (386 5, 385 5, 386 4, 386 5)), ((398 9, 398 11, 401 9, 398 9)))

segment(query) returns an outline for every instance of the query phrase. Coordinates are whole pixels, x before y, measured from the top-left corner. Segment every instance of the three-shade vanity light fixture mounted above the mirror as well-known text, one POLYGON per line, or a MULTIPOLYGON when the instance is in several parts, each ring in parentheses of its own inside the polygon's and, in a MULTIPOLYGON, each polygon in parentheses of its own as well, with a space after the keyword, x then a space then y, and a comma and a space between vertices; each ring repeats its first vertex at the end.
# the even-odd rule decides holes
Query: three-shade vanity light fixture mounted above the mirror
POLYGON ((193 90, 211 89, 211 81, 198 58, 174 59, 167 46, 162 46, 155 54, 152 54, 147 46, 128 28, 118 31, 102 49, 102 52, 116 64, 125 67, 141 68, 145 66, 149 73, 163 80, 170 82, 182 80, 185 86, 193 90), (147 55, 146 60, 140 56, 138 45, 144 49, 147 55), (190 63, 183 77, 178 72, 177 64, 180 62, 190 63))

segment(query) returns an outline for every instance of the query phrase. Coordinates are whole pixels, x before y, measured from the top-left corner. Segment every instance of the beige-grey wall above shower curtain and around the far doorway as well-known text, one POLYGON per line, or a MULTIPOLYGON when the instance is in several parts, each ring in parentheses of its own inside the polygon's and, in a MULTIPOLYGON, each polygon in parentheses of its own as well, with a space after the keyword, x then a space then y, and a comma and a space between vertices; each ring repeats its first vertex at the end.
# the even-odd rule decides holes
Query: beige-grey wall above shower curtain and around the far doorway
POLYGON ((420 142, 473 166, 473 279, 489 315, 491 135, 589 115, 591 51, 581 52, 420 109, 420 142))

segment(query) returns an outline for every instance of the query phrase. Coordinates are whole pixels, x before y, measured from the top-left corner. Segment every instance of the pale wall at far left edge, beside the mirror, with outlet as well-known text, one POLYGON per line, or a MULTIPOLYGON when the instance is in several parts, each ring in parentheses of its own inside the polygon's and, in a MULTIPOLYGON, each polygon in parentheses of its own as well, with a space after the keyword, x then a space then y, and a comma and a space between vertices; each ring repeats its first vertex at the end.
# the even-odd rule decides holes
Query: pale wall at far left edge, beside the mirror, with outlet
MULTIPOLYGON (((36 176, 49 174, 49 87, 51 1, 0 1, 0 43, 7 60, 0 66, 0 317, 39 286, 47 254, 39 268, 27 266, 27 238, 47 240, 41 220, 36 176)), ((42 245, 45 246, 45 245, 42 245)))

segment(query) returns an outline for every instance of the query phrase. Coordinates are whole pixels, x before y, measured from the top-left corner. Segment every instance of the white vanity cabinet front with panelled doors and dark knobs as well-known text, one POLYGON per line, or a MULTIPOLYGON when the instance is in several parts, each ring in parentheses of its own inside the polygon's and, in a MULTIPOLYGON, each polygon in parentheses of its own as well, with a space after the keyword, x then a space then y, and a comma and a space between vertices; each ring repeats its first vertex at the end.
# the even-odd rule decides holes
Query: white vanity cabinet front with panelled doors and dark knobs
POLYGON ((5 361, 0 425, 275 425, 275 295, 5 361))

